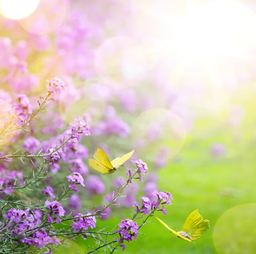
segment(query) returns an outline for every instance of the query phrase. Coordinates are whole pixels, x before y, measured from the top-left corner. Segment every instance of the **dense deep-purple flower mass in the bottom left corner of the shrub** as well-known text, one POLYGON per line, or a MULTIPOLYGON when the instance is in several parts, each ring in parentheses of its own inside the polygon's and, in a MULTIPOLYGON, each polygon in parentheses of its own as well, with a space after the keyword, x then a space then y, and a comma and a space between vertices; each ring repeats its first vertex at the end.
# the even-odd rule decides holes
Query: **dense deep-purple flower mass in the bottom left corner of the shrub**
MULTIPOLYGON (((6 221, 7 231, 12 233, 12 238, 19 236, 18 241, 21 243, 45 248, 48 244, 58 244, 60 242, 55 236, 49 236, 45 228, 36 229, 41 224, 41 214, 37 210, 31 214, 29 210, 23 211, 12 208, 3 217, 8 219, 6 221)), ((49 231, 49 233, 53 234, 52 231, 49 231)))

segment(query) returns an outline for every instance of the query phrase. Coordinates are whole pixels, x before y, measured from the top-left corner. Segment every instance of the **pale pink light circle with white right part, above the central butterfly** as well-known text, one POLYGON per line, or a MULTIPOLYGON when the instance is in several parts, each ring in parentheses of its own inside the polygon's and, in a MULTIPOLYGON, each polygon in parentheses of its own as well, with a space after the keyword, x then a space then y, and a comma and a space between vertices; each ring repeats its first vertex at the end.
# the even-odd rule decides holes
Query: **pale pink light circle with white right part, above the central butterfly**
POLYGON ((147 57, 143 47, 131 37, 105 40, 96 51, 99 77, 110 86, 127 86, 145 77, 147 57))

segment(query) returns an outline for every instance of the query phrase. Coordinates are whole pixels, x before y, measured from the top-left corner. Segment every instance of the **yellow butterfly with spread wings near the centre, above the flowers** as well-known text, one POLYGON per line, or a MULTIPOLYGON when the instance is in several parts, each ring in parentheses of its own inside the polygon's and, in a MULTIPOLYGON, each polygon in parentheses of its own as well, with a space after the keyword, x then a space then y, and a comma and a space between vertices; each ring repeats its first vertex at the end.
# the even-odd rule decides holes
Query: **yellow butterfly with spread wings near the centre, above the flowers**
POLYGON ((110 162, 107 154, 105 154, 102 149, 97 148, 95 154, 93 154, 95 160, 89 159, 89 165, 102 174, 112 174, 116 171, 116 168, 122 166, 122 164, 125 163, 125 161, 127 161, 133 153, 134 150, 123 155, 121 158, 117 157, 110 162))

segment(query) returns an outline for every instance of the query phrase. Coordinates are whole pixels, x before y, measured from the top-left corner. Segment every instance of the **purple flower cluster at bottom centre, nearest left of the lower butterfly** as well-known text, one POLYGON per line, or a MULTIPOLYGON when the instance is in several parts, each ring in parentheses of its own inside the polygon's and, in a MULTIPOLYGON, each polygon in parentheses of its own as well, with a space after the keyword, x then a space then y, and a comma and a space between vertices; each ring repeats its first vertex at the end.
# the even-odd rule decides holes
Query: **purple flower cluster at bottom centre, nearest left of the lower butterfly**
POLYGON ((122 244, 123 250, 125 249, 124 240, 127 242, 132 241, 133 239, 137 239, 138 235, 138 229, 139 226, 137 225, 136 221, 126 219, 126 220, 121 220, 121 223, 119 225, 119 230, 114 231, 115 233, 119 234, 118 239, 116 239, 117 242, 122 244))

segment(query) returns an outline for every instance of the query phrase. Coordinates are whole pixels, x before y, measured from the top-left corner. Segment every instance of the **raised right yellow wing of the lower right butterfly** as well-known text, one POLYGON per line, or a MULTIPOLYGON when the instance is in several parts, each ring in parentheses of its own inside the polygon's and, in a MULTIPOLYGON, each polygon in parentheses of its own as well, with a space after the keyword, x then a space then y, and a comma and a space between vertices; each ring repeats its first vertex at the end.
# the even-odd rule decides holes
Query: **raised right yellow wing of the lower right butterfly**
POLYGON ((194 240, 201 237, 207 228, 209 228, 209 220, 203 220, 202 215, 199 214, 198 209, 196 209, 189 214, 189 217, 186 219, 181 231, 185 231, 189 234, 192 240, 194 240))

